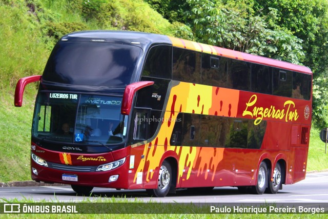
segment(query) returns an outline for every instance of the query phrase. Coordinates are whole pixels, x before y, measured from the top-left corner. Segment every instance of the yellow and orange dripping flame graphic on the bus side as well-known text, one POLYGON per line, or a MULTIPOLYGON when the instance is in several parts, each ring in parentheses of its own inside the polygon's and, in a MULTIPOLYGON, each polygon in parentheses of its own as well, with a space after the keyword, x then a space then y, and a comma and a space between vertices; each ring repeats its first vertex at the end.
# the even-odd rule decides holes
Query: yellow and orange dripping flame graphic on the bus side
MULTIPOLYGON (((235 117, 238 100, 239 91, 236 90, 180 82, 171 88, 164 121, 177 121, 179 112, 235 117)), ((159 167, 162 155, 166 151, 174 151, 179 158, 177 185, 183 175, 186 175, 188 180, 192 171, 196 171, 197 176, 202 176, 206 180, 209 169, 212 174, 211 181, 214 180, 218 168, 215 164, 222 160, 224 148, 171 146, 168 138, 173 127, 174 123, 162 123, 157 137, 147 146, 141 146, 144 147, 143 154, 146 157, 144 162, 139 163, 134 183, 138 172, 147 173, 146 182, 156 179, 158 176, 154 176, 154 170, 159 167)))

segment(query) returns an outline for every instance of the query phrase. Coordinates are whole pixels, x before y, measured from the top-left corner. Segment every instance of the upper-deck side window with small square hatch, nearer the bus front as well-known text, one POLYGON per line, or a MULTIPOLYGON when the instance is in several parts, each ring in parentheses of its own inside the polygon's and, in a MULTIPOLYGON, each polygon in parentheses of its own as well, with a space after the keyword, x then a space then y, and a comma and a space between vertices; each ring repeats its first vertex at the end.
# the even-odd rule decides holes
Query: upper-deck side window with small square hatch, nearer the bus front
POLYGON ((227 58, 203 53, 201 57, 201 83, 227 87, 227 58))

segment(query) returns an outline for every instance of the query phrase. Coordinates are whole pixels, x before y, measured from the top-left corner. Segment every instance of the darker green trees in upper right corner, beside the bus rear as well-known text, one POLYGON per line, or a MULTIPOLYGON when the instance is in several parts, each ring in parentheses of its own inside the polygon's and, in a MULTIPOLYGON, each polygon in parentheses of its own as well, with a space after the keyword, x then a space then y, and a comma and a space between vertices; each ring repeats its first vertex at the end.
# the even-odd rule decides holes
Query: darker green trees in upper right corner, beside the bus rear
POLYGON ((272 28, 290 31, 302 39, 305 58, 302 63, 313 71, 313 120, 319 126, 328 125, 326 78, 328 76, 328 2, 326 0, 258 0, 255 11, 264 16, 276 10, 274 20, 266 21, 272 28))

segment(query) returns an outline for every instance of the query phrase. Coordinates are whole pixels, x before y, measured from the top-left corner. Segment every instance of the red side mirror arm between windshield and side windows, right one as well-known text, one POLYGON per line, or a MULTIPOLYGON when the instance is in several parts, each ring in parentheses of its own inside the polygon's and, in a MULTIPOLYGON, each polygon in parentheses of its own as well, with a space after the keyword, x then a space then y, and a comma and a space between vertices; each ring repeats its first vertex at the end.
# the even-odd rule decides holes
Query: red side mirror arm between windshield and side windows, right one
POLYGON ((122 106, 121 106, 121 114, 129 115, 130 111, 131 111, 131 107, 132 107, 134 94, 141 88, 151 86, 153 84, 154 84, 154 82, 149 82, 149 81, 135 82, 135 83, 129 84, 124 90, 122 106))

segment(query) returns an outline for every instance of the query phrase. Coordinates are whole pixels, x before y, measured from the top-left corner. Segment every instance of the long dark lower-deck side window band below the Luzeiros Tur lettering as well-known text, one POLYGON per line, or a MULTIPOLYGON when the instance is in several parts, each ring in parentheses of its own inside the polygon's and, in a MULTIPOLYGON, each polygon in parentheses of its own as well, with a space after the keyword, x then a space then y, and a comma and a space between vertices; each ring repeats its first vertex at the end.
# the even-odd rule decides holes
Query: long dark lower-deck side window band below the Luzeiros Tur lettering
POLYGON ((179 113, 170 144, 259 149, 266 128, 267 121, 254 125, 254 120, 245 118, 179 113))

